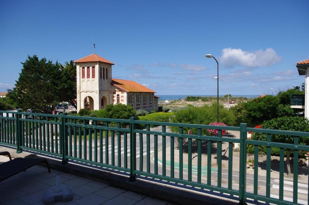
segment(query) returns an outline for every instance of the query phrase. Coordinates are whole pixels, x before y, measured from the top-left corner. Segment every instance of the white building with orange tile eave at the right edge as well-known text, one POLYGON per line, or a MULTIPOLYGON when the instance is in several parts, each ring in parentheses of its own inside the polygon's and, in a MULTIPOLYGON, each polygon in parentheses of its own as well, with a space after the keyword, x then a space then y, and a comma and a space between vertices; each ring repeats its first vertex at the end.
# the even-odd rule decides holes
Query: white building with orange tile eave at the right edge
MULTIPOLYGON (((298 69, 299 75, 305 75, 305 106, 294 106, 294 108, 305 108, 305 117, 309 119, 309 59, 305 61, 300 61, 296 64, 296 68, 298 69)), ((291 106, 292 107, 292 106, 291 106)))

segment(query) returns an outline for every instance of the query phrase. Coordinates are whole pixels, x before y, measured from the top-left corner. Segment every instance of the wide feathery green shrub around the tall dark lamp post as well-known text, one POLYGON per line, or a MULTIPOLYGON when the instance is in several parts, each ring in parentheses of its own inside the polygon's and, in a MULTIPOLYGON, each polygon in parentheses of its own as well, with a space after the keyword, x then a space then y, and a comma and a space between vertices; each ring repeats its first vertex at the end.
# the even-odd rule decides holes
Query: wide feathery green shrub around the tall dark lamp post
MULTIPOLYGON (((217 104, 203 107, 188 107, 175 112, 175 117, 171 118, 174 123, 189 123, 189 124, 204 124, 208 125, 211 122, 217 121, 217 104)), ((234 115, 229 112, 222 104, 219 105, 219 120, 227 125, 234 123, 234 115)), ((178 132, 178 127, 171 127, 173 132, 178 132)), ((183 132, 187 133, 189 128, 183 128, 183 132)), ((193 135, 197 134, 197 128, 190 128, 193 135)), ((203 134, 208 134, 206 129, 202 129, 203 134)))

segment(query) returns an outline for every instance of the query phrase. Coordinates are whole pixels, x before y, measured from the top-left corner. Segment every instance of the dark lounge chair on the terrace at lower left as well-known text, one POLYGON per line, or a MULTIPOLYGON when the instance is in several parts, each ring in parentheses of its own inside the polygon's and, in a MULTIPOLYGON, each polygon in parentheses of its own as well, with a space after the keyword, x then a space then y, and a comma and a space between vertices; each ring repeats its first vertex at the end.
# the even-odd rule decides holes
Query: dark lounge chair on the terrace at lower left
POLYGON ((11 155, 8 152, 0 152, 0 155, 8 155, 10 157, 10 161, 0 164, 0 182, 43 162, 46 163, 48 172, 50 172, 47 159, 27 159, 18 157, 12 160, 11 155))

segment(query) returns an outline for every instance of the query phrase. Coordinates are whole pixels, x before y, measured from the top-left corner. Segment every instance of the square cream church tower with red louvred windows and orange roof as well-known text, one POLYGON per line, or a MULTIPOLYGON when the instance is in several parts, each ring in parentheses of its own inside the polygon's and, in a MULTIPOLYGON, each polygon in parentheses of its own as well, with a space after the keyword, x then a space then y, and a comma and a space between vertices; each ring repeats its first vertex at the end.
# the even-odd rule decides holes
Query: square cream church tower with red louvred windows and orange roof
POLYGON ((111 61, 91 54, 76 63, 77 111, 99 110, 113 102, 111 61))

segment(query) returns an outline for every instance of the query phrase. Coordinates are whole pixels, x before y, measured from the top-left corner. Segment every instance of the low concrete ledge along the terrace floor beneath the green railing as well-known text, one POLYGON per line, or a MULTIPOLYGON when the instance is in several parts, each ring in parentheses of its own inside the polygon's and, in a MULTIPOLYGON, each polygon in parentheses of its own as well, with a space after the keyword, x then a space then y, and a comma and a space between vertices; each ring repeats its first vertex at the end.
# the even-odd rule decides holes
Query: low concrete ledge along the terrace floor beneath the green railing
MULTIPOLYGON (((16 154, 16 150, 0 147, 1 151, 8 151, 11 153, 13 158, 17 157, 36 157, 43 158, 31 153, 19 153, 16 154)), ((146 182, 141 179, 137 179, 135 182, 129 182, 129 178, 126 176, 121 176, 119 174, 114 174, 112 172, 91 169, 75 164, 68 163, 67 165, 62 165, 61 161, 48 159, 50 168, 57 169, 63 172, 75 174, 78 176, 94 179, 97 181, 105 182, 111 186, 116 186, 119 188, 131 190, 138 192, 143 195, 149 195, 158 199, 166 200, 168 202, 192 205, 192 204, 237 204, 233 199, 227 199, 220 196, 214 195, 213 197, 198 194, 189 190, 182 190, 174 187, 170 187, 164 184, 157 184, 153 182, 146 182)), ((42 164, 44 165, 44 164, 42 164)))

